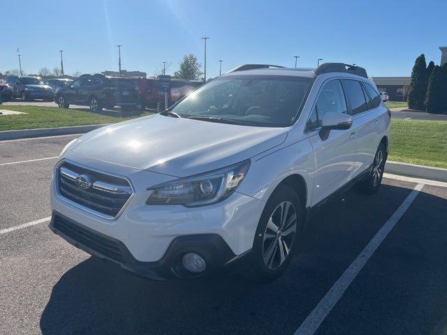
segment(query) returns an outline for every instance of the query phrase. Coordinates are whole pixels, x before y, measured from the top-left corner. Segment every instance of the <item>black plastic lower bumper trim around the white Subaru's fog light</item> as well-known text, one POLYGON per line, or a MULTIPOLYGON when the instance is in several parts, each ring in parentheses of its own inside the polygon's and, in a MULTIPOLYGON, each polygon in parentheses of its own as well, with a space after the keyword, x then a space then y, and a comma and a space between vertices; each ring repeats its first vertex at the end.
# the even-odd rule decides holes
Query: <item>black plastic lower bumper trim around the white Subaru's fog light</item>
POLYGON ((217 234, 196 234, 173 239, 160 260, 140 262, 121 241, 91 230, 56 211, 53 211, 48 226, 52 232, 90 255, 111 261, 140 276, 159 281, 200 276, 201 274, 192 274, 182 267, 182 257, 189 252, 198 253, 206 260, 207 269, 204 272, 206 275, 237 269, 250 259, 250 251, 235 255, 217 234))

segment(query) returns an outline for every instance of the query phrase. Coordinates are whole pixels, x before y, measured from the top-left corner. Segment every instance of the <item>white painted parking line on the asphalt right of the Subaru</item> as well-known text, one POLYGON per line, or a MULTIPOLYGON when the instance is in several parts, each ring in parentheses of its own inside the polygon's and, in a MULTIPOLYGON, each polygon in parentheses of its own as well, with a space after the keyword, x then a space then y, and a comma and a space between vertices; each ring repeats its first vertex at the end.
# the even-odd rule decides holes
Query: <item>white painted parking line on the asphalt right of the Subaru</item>
POLYGON ((366 264, 374 251, 380 246, 383 239, 386 238, 388 233, 394 228, 395 224, 406 209, 410 207, 419 191, 422 190, 424 184, 417 184, 411 193, 406 197, 400 207, 394 212, 394 214, 386 221, 383 227, 374 235, 371 241, 365 246, 360 255, 349 265, 348 269, 344 271, 342 276, 338 278, 332 288, 326 293, 326 295, 318 302, 318 305, 314 308, 314 311, 307 315, 307 318, 302 322, 300 327, 296 330, 295 335, 312 335, 316 332, 316 329, 320 327, 321 322, 328 316, 332 308, 337 304, 337 301, 342 297, 346 289, 351 285, 352 281, 362 267, 366 264))

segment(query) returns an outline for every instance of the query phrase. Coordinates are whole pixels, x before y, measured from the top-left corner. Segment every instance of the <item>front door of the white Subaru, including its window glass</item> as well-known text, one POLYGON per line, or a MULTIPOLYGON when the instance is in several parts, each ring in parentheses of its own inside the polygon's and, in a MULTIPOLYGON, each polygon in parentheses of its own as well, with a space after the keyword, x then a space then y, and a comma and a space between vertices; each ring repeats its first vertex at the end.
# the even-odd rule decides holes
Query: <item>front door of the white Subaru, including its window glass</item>
POLYGON ((321 119, 326 112, 348 114, 346 96, 338 79, 323 84, 307 121, 307 135, 314 151, 312 205, 348 183, 356 166, 357 148, 351 129, 332 130, 327 138, 321 137, 321 119))

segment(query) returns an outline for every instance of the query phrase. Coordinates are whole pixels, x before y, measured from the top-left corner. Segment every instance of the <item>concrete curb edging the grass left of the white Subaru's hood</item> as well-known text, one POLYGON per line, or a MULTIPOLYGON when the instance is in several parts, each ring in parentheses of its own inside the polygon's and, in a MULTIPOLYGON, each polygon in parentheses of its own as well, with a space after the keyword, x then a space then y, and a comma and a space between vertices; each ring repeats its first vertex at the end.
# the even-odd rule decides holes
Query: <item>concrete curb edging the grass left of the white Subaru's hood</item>
POLYGON ((108 126, 108 124, 93 124, 90 126, 71 126, 59 128, 38 128, 38 129, 24 129, 20 131, 0 131, 0 141, 18 140, 20 138, 29 137, 45 137, 57 135, 71 135, 83 134, 95 129, 108 126))

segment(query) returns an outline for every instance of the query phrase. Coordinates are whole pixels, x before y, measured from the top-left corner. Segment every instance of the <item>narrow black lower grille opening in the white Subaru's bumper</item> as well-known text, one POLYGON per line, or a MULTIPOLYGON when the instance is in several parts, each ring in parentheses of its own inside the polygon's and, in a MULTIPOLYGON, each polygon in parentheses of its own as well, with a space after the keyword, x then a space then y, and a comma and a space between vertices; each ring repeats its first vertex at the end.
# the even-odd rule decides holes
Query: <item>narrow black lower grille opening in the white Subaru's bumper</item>
POLYGON ((117 240, 106 237, 98 232, 94 232, 94 230, 85 228, 78 223, 68 221, 58 215, 54 216, 53 225, 54 228, 73 240, 73 242, 82 244, 111 260, 116 260, 121 263, 124 262, 121 248, 119 248, 119 242, 117 240))

